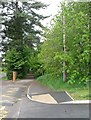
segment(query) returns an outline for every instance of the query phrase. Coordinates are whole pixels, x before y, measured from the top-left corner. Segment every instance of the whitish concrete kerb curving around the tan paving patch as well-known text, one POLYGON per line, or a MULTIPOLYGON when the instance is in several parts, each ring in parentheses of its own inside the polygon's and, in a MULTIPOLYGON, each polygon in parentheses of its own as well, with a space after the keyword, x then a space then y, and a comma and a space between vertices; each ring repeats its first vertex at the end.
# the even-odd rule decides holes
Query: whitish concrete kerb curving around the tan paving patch
MULTIPOLYGON (((29 94, 29 91, 32 87, 32 84, 28 87, 27 89, 27 98, 31 101, 34 101, 34 102, 39 102, 39 103, 42 103, 42 104, 50 104, 50 103, 45 103, 45 102, 41 102, 41 101, 38 101, 38 100, 34 100, 32 99, 32 96, 29 94)), ((68 102, 61 102, 61 103, 51 103, 51 104, 91 104, 91 100, 74 100, 67 91, 65 91, 66 94, 72 99, 72 101, 68 101, 68 102)))

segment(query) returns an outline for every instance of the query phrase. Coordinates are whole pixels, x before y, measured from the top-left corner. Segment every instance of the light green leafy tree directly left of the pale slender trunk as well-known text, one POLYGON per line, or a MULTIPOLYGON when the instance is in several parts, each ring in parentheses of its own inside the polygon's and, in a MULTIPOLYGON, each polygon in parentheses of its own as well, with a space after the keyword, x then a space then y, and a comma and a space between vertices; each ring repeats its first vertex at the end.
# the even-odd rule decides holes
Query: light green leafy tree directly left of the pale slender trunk
POLYGON ((59 75, 62 73, 61 55, 63 55, 62 31, 60 30, 60 17, 54 20, 55 25, 52 29, 47 29, 45 33, 46 40, 41 45, 39 53, 39 60, 43 64, 46 73, 55 73, 59 75))

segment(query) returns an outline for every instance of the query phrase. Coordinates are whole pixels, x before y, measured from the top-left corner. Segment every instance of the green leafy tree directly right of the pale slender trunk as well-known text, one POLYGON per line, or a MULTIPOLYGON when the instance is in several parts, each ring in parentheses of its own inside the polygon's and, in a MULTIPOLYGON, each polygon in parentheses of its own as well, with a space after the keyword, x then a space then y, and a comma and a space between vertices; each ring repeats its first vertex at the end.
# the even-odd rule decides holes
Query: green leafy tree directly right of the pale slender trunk
POLYGON ((88 80, 89 29, 88 3, 69 3, 66 8, 67 52, 71 55, 68 61, 69 82, 85 83, 88 80), (69 13, 69 14, 67 14, 69 13), (87 73, 87 74, 86 74, 87 73))

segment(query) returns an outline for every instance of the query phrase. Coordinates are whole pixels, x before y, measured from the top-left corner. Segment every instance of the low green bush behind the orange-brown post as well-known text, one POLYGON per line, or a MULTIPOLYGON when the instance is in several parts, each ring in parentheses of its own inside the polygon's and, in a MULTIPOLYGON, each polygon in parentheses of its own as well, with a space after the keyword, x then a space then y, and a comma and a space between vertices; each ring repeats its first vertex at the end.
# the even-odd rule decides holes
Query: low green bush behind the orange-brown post
POLYGON ((18 78, 23 78, 26 76, 27 72, 29 71, 28 57, 30 55, 30 53, 27 53, 27 49, 25 48, 23 52, 20 52, 14 48, 7 52, 5 56, 5 67, 8 79, 12 79, 13 71, 18 73, 18 78))

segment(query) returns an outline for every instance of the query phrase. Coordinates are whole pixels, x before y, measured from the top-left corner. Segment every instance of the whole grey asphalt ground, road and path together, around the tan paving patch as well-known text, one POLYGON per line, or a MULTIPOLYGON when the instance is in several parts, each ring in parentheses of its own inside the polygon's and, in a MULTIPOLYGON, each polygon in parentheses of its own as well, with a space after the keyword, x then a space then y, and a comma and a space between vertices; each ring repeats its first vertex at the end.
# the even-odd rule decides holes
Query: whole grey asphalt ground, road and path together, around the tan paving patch
MULTIPOLYGON (((5 107, 2 109, 6 111, 6 118, 89 118, 89 104, 65 104, 64 99, 59 101, 62 92, 56 94, 33 79, 9 82, 2 85, 2 106, 5 107), (41 103, 27 97, 27 94, 32 98, 32 95, 44 93, 51 94, 58 104, 41 103)), ((70 98, 68 101, 73 100, 70 98)))

